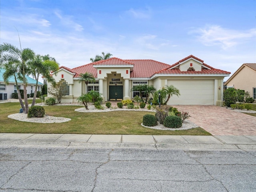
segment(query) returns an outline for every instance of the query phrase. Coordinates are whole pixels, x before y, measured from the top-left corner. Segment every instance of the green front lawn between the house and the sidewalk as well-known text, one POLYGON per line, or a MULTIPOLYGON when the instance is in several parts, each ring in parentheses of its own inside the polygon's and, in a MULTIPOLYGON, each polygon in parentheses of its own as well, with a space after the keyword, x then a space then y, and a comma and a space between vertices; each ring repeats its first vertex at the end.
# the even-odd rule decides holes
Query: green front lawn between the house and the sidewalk
MULTIPOLYGON (((31 102, 31 101, 29 101, 31 102)), ((37 100, 36 102, 40 102, 37 100)), ((71 118, 64 123, 31 123, 8 118, 18 113, 19 103, 0 104, 1 133, 60 133, 60 134, 138 134, 138 135, 211 135, 198 127, 189 130, 155 130, 141 126, 144 111, 113 111, 82 113, 82 106, 44 106, 48 116, 71 118)))

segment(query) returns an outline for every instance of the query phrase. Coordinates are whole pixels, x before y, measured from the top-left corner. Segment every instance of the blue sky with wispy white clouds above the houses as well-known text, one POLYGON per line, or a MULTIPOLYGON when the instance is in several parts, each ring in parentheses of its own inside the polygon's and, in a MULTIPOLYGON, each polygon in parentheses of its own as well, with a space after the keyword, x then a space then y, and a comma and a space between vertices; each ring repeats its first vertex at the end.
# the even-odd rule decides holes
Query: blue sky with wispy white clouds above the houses
POLYGON ((232 75, 256 63, 256 0, 0 0, 0 44, 20 47, 18 35, 68 68, 102 52, 170 65, 194 55, 232 75))

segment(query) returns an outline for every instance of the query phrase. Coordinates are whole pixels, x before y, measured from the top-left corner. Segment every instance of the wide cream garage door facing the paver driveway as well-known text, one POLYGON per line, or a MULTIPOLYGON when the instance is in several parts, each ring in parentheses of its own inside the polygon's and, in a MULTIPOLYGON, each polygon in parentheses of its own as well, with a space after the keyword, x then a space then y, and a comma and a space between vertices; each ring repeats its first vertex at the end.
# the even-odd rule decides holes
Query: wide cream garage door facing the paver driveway
POLYGON ((180 90, 180 96, 172 96, 169 105, 214 105, 214 80, 168 80, 180 90))

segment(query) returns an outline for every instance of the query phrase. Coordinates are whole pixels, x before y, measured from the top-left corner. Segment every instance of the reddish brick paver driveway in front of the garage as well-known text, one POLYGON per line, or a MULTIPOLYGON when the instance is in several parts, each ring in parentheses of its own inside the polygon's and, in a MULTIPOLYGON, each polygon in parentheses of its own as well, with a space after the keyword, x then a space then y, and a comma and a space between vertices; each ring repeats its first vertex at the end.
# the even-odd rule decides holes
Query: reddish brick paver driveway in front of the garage
POLYGON ((256 135, 256 117, 213 105, 176 105, 212 135, 256 135))

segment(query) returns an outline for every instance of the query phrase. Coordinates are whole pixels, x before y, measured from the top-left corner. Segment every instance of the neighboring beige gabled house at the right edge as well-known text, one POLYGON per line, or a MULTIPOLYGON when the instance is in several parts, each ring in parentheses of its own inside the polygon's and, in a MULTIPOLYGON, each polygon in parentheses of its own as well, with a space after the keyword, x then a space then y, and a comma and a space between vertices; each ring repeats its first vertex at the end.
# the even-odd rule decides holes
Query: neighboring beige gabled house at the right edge
POLYGON ((248 91, 256 99, 256 63, 244 63, 224 83, 224 86, 248 91))

